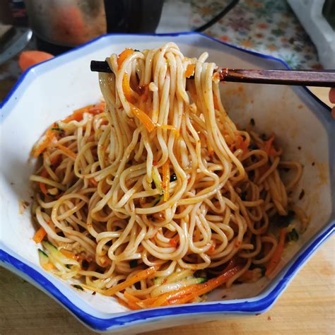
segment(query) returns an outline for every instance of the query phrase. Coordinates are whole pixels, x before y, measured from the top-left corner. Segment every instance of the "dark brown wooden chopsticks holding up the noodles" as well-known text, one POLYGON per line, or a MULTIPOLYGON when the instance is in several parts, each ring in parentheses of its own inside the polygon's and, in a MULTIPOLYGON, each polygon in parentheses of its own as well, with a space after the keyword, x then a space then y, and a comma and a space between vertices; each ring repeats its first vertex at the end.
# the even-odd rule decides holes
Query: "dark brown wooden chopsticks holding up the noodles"
MULTIPOLYGON (((105 73, 112 72, 107 61, 91 61, 90 70, 105 73)), ((242 70, 217 68, 216 73, 220 81, 335 87, 335 70, 242 70)))

